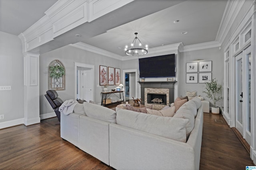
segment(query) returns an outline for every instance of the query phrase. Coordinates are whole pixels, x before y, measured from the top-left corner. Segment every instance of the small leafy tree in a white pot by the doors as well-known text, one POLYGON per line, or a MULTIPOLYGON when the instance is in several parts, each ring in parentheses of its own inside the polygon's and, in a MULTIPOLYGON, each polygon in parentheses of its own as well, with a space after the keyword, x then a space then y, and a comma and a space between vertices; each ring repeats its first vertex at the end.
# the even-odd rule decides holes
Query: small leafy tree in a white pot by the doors
POLYGON ((206 97, 212 100, 214 104, 214 107, 212 107, 212 113, 219 114, 220 107, 216 107, 216 102, 218 102, 219 100, 222 100, 223 98, 222 96, 219 96, 219 93, 221 92, 221 85, 218 84, 216 78, 209 80, 204 84, 205 84, 205 91, 203 91, 203 93, 206 93, 206 97))

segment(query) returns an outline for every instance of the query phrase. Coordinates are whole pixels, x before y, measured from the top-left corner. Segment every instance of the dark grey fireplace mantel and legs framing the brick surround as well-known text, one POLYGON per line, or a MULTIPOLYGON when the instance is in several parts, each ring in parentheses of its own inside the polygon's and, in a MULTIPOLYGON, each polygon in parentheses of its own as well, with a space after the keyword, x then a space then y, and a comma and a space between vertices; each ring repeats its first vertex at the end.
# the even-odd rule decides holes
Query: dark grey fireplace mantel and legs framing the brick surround
POLYGON ((168 88, 169 89, 169 103, 174 102, 174 84, 177 81, 165 82, 138 82, 140 83, 140 97, 142 104, 145 104, 145 88, 168 88))

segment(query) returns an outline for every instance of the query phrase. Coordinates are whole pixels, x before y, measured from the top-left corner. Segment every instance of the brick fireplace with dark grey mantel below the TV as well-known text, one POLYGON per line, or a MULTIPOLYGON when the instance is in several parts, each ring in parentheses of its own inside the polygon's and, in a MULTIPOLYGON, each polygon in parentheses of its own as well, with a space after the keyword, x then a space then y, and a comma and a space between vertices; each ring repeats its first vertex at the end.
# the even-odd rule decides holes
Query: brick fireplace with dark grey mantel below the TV
POLYGON ((141 90, 141 104, 153 105, 153 109, 160 110, 174 102, 174 84, 170 82, 139 82, 141 90), (156 102, 151 102, 152 100, 156 102), (158 102, 158 99, 163 100, 158 102))

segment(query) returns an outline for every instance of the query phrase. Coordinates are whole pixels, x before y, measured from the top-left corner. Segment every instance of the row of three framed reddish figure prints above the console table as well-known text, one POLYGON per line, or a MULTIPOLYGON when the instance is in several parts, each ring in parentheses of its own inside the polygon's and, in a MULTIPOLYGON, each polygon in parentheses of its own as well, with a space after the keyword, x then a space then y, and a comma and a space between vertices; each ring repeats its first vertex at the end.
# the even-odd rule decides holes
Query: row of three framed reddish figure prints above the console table
POLYGON ((100 86, 119 85, 121 80, 120 68, 100 65, 100 86))

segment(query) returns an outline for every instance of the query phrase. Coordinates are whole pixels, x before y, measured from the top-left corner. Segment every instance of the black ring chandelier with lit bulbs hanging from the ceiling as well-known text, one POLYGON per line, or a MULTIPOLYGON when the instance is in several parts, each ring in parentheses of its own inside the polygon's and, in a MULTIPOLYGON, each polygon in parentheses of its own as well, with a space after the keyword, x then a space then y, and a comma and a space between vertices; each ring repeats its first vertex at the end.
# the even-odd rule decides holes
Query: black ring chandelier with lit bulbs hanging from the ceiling
POLYGON ((130 47, 128 48, 128 45, 125 47, 125 53, 126 55, 133 55, 133 56, 139 56, 139 55, 145 55, 148 53, 148 45, 144 47, 142 43, 140 42, 140 39, 137 37, 138 33, 134 33, 136 37, 132 41, 130 47), (137 42, 136 42, 137 41, 137 42))

